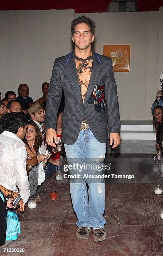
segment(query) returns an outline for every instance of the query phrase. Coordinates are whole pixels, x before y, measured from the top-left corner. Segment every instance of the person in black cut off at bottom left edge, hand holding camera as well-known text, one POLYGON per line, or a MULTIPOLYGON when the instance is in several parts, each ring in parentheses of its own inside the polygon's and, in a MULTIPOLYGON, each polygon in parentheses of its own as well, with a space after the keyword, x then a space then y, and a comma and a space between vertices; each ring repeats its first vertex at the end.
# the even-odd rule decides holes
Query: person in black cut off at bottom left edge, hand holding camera
POLYGON ((0 189, 0 246, 5 244, 6 241, 6 217, 7 217, 7 208, 14 208, 11 203, 13 198, 6 200, 4 193, 0 189))

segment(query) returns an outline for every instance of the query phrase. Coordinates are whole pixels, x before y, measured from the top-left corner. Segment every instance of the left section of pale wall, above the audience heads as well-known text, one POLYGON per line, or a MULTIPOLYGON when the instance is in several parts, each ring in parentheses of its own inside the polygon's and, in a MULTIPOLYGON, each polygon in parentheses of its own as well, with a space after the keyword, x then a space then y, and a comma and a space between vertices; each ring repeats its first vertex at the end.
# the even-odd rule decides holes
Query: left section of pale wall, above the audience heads
POLYGON ((0 91, 17 92, 26 83, 30 96, 42 96, 54 59, 72 50, 74 10, 0 11, 0 91))

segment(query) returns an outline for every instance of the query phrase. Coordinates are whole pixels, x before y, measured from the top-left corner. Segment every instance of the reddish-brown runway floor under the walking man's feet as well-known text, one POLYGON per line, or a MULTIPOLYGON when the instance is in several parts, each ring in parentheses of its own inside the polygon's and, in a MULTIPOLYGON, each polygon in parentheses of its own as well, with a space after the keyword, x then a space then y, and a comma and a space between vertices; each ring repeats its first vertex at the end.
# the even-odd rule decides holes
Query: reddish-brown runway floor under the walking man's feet
POLYGON ((134 179, 106 180, 106 241, 94 242, 92 233, 86 241, 76 238, 77 218, 72 209, 69 180, 56 181, 52 174, 40 187, 42 201, 37 202, 35 209, 27 208, 20 215, 18 239, 1 246, 0 255, 163 255, 163 220, 160 218, 163 194, 153 192, 153 183, 162 181, 153 172, 151 157, 151 154, 107 155, 110 173, 131 174, 134 179), (55 201, 49 197, 53 189, 58 192, 55 201), (10 248, 24 248, 25 252, 9 252, 10 248))

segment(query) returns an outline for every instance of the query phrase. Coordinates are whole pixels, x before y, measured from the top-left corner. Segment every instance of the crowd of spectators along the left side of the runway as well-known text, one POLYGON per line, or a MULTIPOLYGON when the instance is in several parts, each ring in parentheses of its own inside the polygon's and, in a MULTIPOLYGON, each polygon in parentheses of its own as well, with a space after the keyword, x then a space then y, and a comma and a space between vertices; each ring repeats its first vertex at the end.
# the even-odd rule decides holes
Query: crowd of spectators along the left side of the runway
MULTIPOLYGON (((27 84, 20 84, 18 97, 14 91, 0 93, 0 246, 5 243, 7 210, 15 211, 12 205, 21 195, 18 209, 25 210, 25 203, 37 192, 37 188, 57 169, 56 179, 62 179, 62 159, 59 152, 53 153, 45 139, 45 105, 49 83, 42 84, 43 96, 35 102, 29 97, 27 84), (6 200, 7 199, 7 200, 6 200)), ((62 134, 61 102, 57 118, 58 136, 62 134)), ((56 151, 56 149, 54 150, 56 151)))

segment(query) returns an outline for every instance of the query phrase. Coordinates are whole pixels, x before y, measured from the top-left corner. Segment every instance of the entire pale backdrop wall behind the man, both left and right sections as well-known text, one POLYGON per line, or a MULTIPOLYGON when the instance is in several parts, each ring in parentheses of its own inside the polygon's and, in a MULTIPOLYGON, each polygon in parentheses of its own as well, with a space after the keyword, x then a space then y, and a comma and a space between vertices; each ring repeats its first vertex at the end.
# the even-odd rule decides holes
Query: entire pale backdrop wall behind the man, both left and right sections
MULTIPOLYGON (((163 73, 163 8, 160 13, 85 15, 96 21, 94 50, 98 53, 103 54, 103 44, 131 44, 131 72, 114 74, 121 120, 152 119, 151 105, 163 73)), ((20 83, 27 83, 30 96, 40 97, 54 59, 72 50, 73 19, 72 9, 0 11, 0 91, 17 92, 20 83)))

